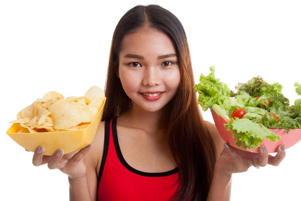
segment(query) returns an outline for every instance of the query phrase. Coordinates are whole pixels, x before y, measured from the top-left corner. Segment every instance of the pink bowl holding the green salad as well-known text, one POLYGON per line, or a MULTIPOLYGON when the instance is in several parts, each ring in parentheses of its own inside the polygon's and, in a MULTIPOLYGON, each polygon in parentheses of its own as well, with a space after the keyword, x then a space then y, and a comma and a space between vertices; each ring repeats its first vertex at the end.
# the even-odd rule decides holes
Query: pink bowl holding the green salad
MULTIPOLYGON (((227 131, 227 128, 224 126, 224 124, 227 124, 228 122, 224 120, 222 117, 218 116, 214 110, 211 109, 211 114, 215 123, 215 126, 220 134, 220 136, 223 138, 225 142, 227 142, 232 147, 235 147, 240 150, 244 150, 241 147, 237 147, 235 145, 235 139, 233 138, 233 133, 227 131)), ((268 153, 275 153, 277 152, 276 149, 279 145, 284 143, 285 149, 295 145, 297 142, 301 140, 301 129, 291 129, 288 133, 284 129, 269 129, 276 135, 281 136, 280 140, 277 142, 272 142, 269 139, 263 140, 263 142, 260 145, 265 145, 268 153)), ((249 151, 253 153, 258 153, 258 149, 246 149, 244 151, 249 151)))

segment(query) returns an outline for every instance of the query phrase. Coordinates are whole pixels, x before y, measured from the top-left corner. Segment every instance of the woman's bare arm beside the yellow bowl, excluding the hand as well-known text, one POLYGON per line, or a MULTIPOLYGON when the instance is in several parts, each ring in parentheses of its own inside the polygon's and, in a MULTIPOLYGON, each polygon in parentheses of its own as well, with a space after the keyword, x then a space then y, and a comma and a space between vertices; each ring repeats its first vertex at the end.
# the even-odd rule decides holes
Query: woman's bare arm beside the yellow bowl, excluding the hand
POLYGON ((91 143, 90 151, 84 156, 84 163, 87 168, 87 174, 81 179, 69 180, 69 197, 71 201, 97 200, 98 177, 97 164, 100 164, 99 158, 102 158, 104 143, 104 122, 100 123, 97 135, 91 143))

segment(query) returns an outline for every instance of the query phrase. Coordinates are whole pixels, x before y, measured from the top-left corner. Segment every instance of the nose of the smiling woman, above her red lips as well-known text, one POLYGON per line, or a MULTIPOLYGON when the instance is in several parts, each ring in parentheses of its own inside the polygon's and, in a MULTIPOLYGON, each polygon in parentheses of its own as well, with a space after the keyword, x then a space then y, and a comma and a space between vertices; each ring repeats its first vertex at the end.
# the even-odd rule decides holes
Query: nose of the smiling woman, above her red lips
POLYGON ((156 66, 144 68, 144 76, 142 80, 143 85, 156 86, 161 83, 161 80, 162 78, 159 68, 157 68, 156 66))

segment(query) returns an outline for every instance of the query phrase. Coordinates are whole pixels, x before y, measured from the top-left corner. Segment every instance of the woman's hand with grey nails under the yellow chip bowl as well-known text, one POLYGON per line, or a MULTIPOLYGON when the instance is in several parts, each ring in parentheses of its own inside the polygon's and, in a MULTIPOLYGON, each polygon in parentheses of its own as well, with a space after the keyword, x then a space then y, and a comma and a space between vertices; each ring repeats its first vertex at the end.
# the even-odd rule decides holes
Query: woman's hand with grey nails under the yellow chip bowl
POLYGON ((40 166, 48 163, 49 169, 59 169, 67 174, 72 180, 80 180, 87 174, 84 156, 88 153, 91 145, 79 151, 64 155, 62 149, 58 149, 53 156, 44 155, 45 149, 41 145, 36 149, 33 156, 33 164, 40 166))

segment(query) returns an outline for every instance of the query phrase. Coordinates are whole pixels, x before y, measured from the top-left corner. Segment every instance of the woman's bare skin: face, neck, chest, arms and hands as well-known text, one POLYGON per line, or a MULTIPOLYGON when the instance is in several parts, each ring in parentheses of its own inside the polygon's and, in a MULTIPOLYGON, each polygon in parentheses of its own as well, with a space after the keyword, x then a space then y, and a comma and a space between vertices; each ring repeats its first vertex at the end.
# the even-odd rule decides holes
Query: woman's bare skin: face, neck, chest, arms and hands
MULTIPOLYGON (((167 35, 142 28, 123 38, 118 55, 117 76, 124 91, 133 101, 131 109, 117 118, 118 141, 127 163, 144 172, 164 172, 177 167, 170 147, 164 139, 165 130, 159 126, 164 107, 175 95, 180 82, 177 57, 158 59, 160 55, 171 53, 176 53, 176 50, 167 35), (124 58, 127 54, 139 55, 144 59, 124 58), (164 93, 159 100, 150 102, 140 94, 143 91, 164 93)), ((267 164, 279 165, 285 156, 280 146, 274 157, 263 152, 261 147, 259 154, 229 147, 225 145, 214 124, 207 122, 207 127, 217 149, 217 162, 208 200, 230 200, 231 175, 247 171, 252 166, 253 157, 258 157, 254 160, 255 165, 264 167, 267 164)), ((70 200, 96 200, 103 144, 104 122, 101 122, 88 149, 83 148, 65 155, 62 152, 59 156, 43 156, 43 148, 41 153, 34 153, 33 164, 48 164, 50 169, 60 169, 67 174, 70 200)))

